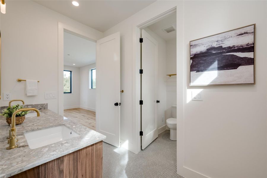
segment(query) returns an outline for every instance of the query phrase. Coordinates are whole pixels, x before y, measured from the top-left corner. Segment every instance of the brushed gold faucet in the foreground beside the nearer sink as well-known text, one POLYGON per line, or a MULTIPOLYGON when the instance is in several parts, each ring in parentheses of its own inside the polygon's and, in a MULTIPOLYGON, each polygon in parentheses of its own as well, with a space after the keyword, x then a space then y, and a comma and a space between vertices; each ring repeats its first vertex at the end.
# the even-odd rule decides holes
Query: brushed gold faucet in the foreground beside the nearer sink
POLYGON ((40 111, 36 108, 23 108, 23 109, 18 109, 12 114, 11 118, 11 127, 10 127, 10 138, 9 138, 9 147, 7 147, 7 150, 11 150, 13 148, 17 148, 18 145, 16 145, 16 137, 17 137, 17 131, 16 131, 16 126, 15 126, 15 118, 16 114, 21 111, 35 111, 37 112, 37 117, 40 116, 40 111))

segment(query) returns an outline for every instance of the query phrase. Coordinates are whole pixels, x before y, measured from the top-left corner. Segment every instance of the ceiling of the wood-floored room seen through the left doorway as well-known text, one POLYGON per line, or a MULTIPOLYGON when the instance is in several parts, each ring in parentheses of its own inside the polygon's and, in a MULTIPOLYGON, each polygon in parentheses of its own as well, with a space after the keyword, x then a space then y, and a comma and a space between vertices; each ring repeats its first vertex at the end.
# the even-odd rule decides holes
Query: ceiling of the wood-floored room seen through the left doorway
POLYGON ((96 43, 64 31, 64 65, 82 67, 95 62, 96 43))

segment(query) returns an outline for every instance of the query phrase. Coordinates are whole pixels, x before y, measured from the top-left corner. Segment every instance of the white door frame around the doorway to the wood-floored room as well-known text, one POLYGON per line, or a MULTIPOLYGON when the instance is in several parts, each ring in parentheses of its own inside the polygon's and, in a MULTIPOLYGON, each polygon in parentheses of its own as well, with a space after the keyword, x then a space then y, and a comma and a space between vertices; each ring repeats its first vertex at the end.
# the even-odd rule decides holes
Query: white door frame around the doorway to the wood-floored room
POLYGON ((96 42, 98 36, 81 31, 72 26, 58 22, 58 114, 64 115, 63 73, 64 70, 64 31, 96 42))

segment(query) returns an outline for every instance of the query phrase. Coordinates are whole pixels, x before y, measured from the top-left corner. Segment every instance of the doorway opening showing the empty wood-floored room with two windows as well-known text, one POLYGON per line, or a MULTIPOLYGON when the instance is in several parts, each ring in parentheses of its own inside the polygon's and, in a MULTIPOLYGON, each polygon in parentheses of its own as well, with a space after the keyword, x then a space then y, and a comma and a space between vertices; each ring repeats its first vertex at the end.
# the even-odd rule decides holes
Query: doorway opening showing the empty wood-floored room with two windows
POLYGON ((64 31, 64 117, 96 130, 96 42, 64 31))

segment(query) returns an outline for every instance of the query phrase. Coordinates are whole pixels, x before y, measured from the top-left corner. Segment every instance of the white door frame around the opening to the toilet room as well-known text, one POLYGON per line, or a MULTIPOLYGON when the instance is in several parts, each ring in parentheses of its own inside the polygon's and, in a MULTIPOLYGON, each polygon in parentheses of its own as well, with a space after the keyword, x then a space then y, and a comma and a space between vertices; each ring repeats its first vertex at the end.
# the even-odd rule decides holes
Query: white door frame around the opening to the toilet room
MULTIPOLYGON (((141 151, 141 138, 139 136, 140 131, 140 43, 139 38, 141 36, 141 28, 145 28, 166 16, 169 16, 176 12, 176 58, 177 58, 177 174, 183 175, 185 177, 197 177, 197 178, 209 178, 208 176, 201 174, 195 170, 192 170, 185 166, 185 141, 184 141, 184 103, 186 102, 186 88, 188 74, 184 71, 187 68, 188 63, 184 63, 184 58, 187 57, 187 54, 184 54, 184 27, 183 27, 183 2, 180 1, 179 5, 176 5, 173 8, 170 8, 166 12, 161 13, 160 15, 155 16, 149 20, 146 20, 138 25, 133 24, 133 46, 132 46, 132 64, 133 64, 133 118, 136 119, 136 125, 133 125, 135 129, 136 137, 135 142, 138 144, 136 146, 136 152, 141 151)), ((189 55, 188 55, 189 56, 189 55)))

